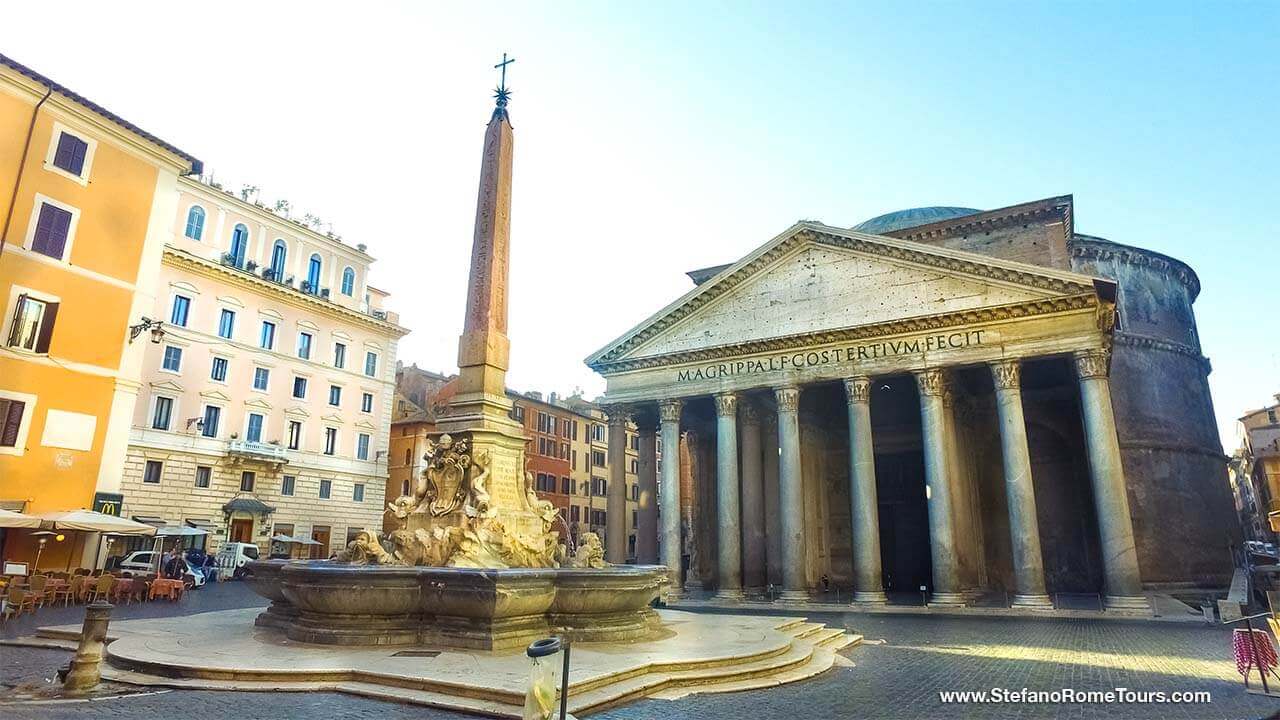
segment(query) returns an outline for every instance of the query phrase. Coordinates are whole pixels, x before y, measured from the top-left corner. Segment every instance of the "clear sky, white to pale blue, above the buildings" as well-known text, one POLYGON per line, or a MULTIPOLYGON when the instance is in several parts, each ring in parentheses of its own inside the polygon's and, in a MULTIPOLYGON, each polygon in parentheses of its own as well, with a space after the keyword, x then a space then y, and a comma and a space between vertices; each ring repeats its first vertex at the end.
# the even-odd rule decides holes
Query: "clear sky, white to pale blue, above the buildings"
POLYGON ((512 372, 581 359, 800 218, 1074 193, 1198 272, 1224 443, 1280 392, 1276 3, 8 8, 4 53, 379 258, 449 369, 492 64, 516 91, 512 372), (58 22, 58 41, 38 27, 58 22), (68 22, 74 19, 76 22, 68 22))

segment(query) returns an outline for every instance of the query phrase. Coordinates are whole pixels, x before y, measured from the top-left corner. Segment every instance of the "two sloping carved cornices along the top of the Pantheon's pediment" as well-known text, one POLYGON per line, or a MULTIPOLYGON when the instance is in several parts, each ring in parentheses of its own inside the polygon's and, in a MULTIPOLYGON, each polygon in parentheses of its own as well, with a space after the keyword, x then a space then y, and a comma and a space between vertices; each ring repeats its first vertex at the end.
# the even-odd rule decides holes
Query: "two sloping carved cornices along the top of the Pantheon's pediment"
POLYGON ((856 252, 932 266, 950 273, 963 273, 998 283, 1030 286, 1060 295, 1093 293, 1098 282, 1097 278, 1079 273, 1001 260, 987 255, 924 245, 890 236, 867 234, 820 223, 801 222, 791 225, 786 232, 764 243, 742 260, 739 260, 714 278, 695 287, 618 340, 596 351, 586 359, 586 364, 595 369, 612 364, 622 355, 643 346, 805 242, 844 247, 856 252))

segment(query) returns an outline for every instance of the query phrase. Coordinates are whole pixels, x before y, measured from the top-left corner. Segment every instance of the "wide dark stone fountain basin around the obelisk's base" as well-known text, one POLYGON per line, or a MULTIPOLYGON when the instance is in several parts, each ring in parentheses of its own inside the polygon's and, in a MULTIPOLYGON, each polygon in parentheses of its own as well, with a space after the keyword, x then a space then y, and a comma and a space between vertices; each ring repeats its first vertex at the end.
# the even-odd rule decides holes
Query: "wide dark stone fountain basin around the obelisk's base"
POLYGON ((649 639, 667 583, 662 565, 475 569, 266 560, 246 582, 271 606, 256 624, 320 644, 524 648, 558 634, 579 642, 649 639))

